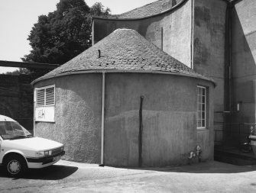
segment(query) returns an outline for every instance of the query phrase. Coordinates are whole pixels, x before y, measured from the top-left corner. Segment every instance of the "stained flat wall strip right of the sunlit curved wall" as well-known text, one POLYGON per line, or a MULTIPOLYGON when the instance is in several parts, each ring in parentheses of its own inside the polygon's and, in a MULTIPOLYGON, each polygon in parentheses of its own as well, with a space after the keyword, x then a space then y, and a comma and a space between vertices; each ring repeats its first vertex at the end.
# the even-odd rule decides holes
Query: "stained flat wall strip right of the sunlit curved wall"
MULTIPOLYGON (((193 69, 215 80, 214 111, 228 111, 225 109, 226 7, 227 2, 222 0, 194 0, 193 69)), ((223 114, 215 114, 214 119, 223 122, 223 114)), ((218 130, 222 127, 215 125, 218 130)))

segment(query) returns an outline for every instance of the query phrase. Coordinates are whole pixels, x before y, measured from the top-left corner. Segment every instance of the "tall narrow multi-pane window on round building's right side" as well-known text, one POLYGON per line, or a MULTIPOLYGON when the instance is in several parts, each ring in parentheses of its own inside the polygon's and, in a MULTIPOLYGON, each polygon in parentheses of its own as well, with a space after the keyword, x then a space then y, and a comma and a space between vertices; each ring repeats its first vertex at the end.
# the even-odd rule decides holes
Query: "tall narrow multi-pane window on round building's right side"
POLYGON ((206 87, 197 86, 197 128, 206 128, 206 87))

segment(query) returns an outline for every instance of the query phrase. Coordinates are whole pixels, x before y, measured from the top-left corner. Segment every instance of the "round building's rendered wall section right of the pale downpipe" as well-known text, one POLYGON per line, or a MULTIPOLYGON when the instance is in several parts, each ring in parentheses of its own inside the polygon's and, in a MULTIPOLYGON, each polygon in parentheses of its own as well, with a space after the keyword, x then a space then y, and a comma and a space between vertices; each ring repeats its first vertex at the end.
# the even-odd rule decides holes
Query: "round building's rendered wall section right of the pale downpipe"
POLYGON ((197 144, 203 160, 213 158, 213 104, 206 130, 196 130, 197 85, 212 83, 183 76, 106 74, 105 164, 138 166, 140 96, 143 101, 142 165, 187 164, 197 144))

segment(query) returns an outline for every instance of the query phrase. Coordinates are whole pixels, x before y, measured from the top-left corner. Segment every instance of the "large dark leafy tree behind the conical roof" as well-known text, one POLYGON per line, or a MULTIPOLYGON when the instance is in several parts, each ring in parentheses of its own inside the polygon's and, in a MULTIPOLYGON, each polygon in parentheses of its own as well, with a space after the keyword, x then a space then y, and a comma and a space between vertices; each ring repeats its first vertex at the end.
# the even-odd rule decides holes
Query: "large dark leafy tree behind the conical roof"
POLYGON ((109 8, 99 2, 89 8, 84 0, 60 0, 56 11, 38 17, 28 36, 31 53, 21 60, 66 63, 91 46, 92 16, 109 14, 109 8))

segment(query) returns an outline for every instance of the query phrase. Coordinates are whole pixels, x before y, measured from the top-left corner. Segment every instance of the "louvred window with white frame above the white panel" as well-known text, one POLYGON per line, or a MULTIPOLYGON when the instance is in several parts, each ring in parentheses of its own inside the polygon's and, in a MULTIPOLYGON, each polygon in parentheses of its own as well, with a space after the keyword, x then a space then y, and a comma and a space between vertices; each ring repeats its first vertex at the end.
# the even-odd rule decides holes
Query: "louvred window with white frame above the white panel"
POLYGON ((36 105, 55 105, 55 86, 36 88, 36 105))

